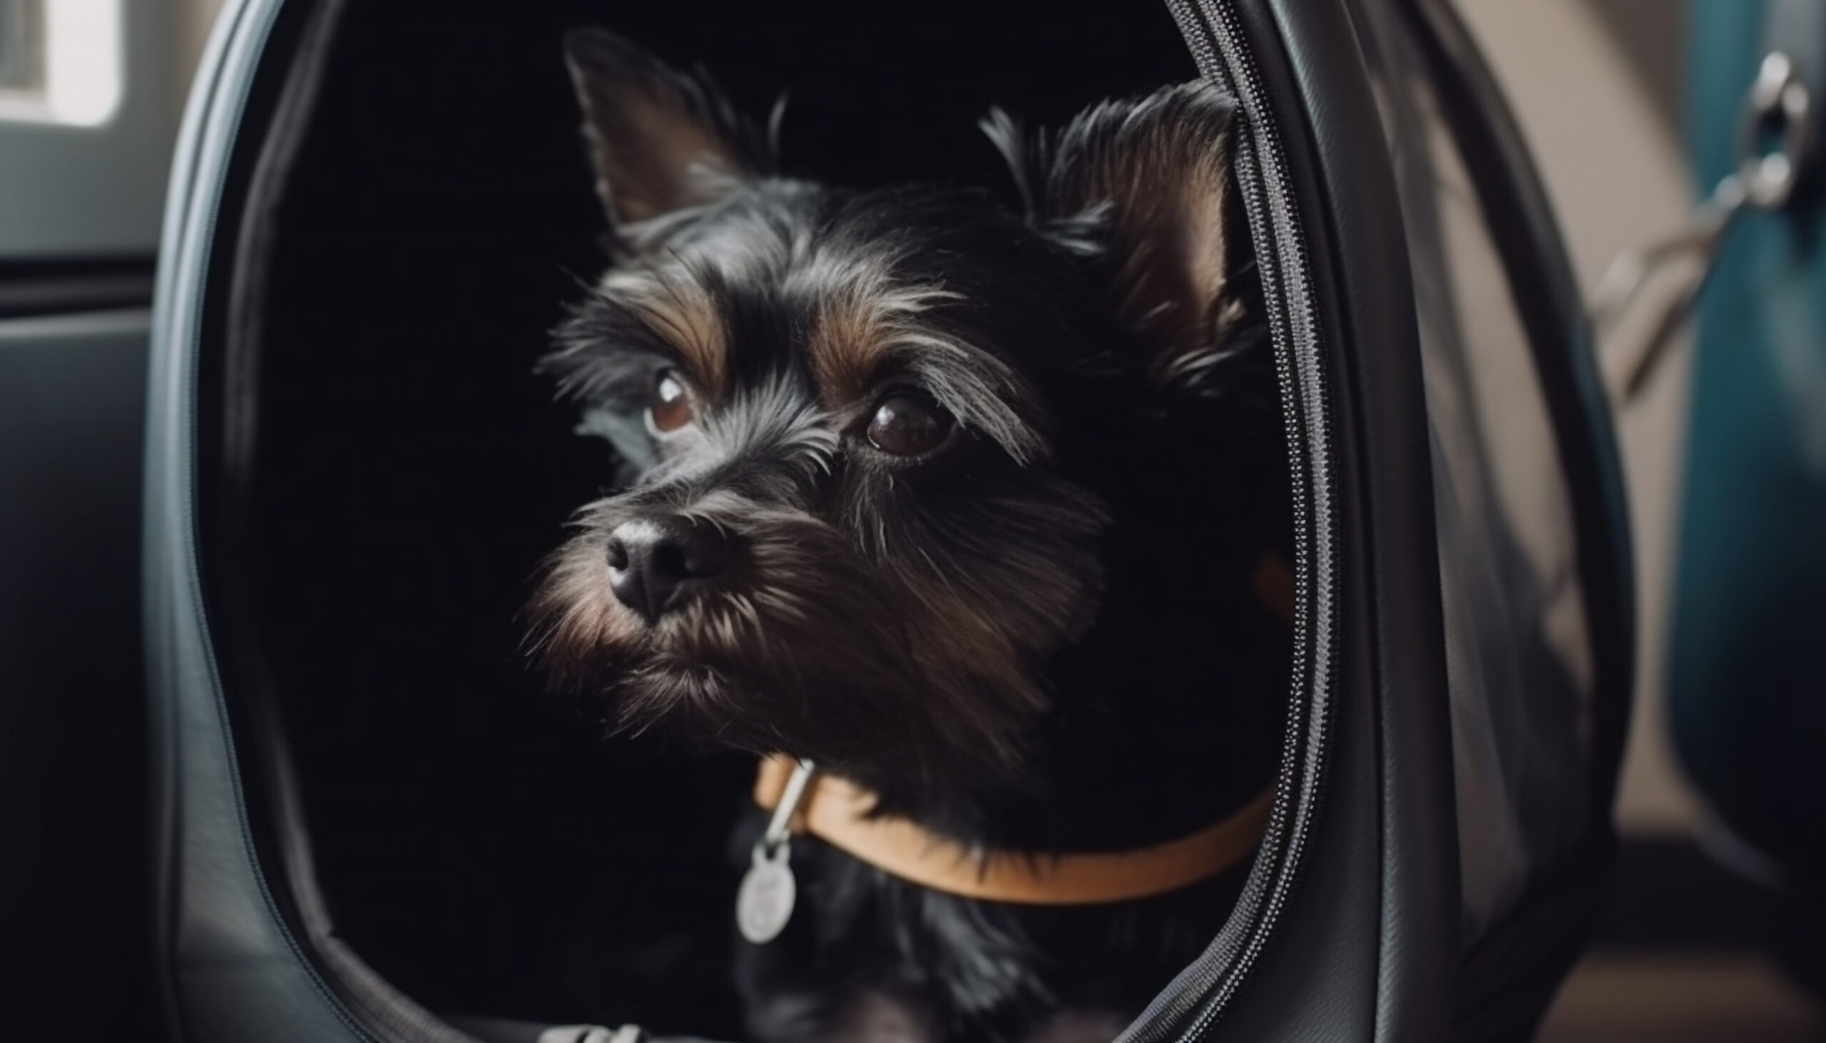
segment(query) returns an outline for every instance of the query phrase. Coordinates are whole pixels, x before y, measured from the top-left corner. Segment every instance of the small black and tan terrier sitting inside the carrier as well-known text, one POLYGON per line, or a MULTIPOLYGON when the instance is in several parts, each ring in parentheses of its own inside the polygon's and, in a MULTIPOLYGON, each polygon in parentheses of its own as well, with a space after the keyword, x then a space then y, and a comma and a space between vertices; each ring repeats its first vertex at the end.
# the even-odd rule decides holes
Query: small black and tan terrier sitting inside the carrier
MULTIPOLYGON (((553 681, 813 762, 869 795, 860 829, 1015 877, 1265 807, 1293 521, 1233 102, 992 111, 1004 206, 787 177, 778 108, 606 31, 566 51, 612 265, 546 369, 621 473, 531 605, 553 681)), ((816 837, 792 871, 783 933, 736 943, 756 1041, 1090 1041, 1209 944, 1247 859, 1057 902, 816 837)))

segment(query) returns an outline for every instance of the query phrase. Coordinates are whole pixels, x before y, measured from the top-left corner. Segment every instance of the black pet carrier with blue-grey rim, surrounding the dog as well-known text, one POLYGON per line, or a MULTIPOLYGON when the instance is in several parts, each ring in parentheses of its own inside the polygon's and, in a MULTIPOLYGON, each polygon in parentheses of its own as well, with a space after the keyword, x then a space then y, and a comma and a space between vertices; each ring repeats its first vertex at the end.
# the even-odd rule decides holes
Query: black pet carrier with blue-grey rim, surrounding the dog
POLYGON ((575 24, 703 62, 750 110, 794 88, 789 161, 851 183, 992 177, 990 102, 1057 124, 1194 75, 1236 93, 1296 663, 1244 897, 1123 1039, 1527 1038, 1603 888, 1629 548, 1552 216, 1443 0, 230 4, 153 332, 175 1038, 730 1023, 710 979, 617 994, 575 922, 727 933, 723 838, 681 824, 727 820, 750 765, 610 756, 517 650, 603 453, 531 373, 601 263, 575 24))

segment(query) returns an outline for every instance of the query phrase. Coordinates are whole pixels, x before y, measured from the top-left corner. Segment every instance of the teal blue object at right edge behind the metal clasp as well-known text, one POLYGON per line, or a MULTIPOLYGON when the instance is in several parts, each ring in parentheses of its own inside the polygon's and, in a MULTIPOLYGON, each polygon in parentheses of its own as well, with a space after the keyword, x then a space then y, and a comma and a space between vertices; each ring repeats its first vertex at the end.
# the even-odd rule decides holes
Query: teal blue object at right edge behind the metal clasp
MULTIPOLYGON (((1753 0, 1689 4, 1689 159, 1700 186, 1737 166, 1762 16, 1753 0)), ((1826 55, 1826 42, 1815 49, 1826 55)), ((1674 743, 1695 784, 1731 831, 1815 893, 1826 880, 1819 195, 1815 186, 1788 212, 1742 219, 1700 300, 1669 641, 1674 743)))

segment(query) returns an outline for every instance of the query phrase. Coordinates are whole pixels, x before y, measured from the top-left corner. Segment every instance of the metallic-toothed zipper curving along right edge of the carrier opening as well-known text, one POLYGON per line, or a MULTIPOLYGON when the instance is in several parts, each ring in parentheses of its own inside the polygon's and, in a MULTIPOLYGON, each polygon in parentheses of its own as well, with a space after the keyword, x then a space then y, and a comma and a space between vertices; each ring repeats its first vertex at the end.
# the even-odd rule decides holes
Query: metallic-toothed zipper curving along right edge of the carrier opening
MULTIPOLYGON (((1329 522, 1331 517, 1329 484, 1322 473, 1324 460, 1329 458, 1331 420, 1329 411, 1324 407, 1324 373, 1317 351, 1311 272, 1300 248, 1306 241, 1304 227, 1287 184, 1280 137, 1273 121, 1267 119, 1262 100, 1262 79, 1254 62, 1249 60, 1247 46, 1236 24, 1233 0, 1169 0, 1169 5, 1181 31, 1185 31, 1200 71, 1212 79, 1229 80, 1227 86, 1236 93, 1247 117, 1244 132, 1253 135, 1256 150, 1254 166, 1258 177, 1254 184, 1244 184, 1249 179, 1242 177, 1245 174, 1242 166, 1238 168, 1238 183, 1244 186, 1245 205, 1254 203, 1254 206, 1245 206, 1245 210, 1251 210, 1258 265, 1265 276, 1264 292, 1273 296, 1273 290, 1278 289, 1280 301, 1286 305, 1286 321, 1271 321, 1275 371, 1280 380, 1282 418, 1287 424, 1295 475, 1306 479, 1295 482, 1296 495, 1293 502, 1295 532, 1302 537, 1295 548, 1295 603, 1298 610, 1295 614, 1293 634, 1296 650, 1293 676, 1300 683, 1298 690, 1311 690, 1311 698, 1296 698, 1293 701, 1287 731, 1282 740, 1282 769, 1269 829, 1271 835, 1284 831, 1284 838, 1275 868, 1262 877, 1267 890, 1265 902, 1254 911, 1242 944, 1202 955, 1174 983, 1176 997, 1145 1014, 1143 1021, 1132 1032, 1125 1034, 1125 1043, 1156 1043, 1174 1036, 1191 1043, 1205 1036, 1223 1016, 1238 986, 1267 946, 1269 935, 1282 919, 1287 895, 1293 891, 1306 864, 1304 853, 1318 806, 1318 774, 1324 767, 1322 756, 1311 754, 1322 754, 1328 749, 1331 731, 1329 645, 1313 648, 1309 637, 1313 634, 1315 612, 1307 610, 1307 606, 1317 606, 1317 616, 1324 623, 1329 623, 1337 592, 1333 570, 1328 568, 1320 579, 1317 599, 1313 597, 1315 566, 1318 564, 1313 543, 1329 539, 1331 530, 1329 524, 1324 526, 1326 532, 1315 532, 1313 528, 1315 521, 1329 522), (1265 199, 1260 199, 1260 195, 1265 195, 1265 199), (1276 223, 1286 225, 1286 236, 1275 236, 1276 223), (1276 263, 1262 265, 1260 259, 1267 252, 1265 245, 1276 241, 1284 243, 1282 252, 1275 256, 1276 263), (1291 243, 1291 250, 1286 247, 1287 243, 1291 243), (1287 263, 1289 252, 1293 254, 1291 263, 1287 263), (1293 289, 1298 292, 1289 292, 1289 281, 1295 283, 1293 289), (1300 347, 1296 342, 1302 331, 1306 331, 1306 340, 1311 345, 1306 353, 1309 358, 1307 365, 1304 365, 1304 374, 1296 358, 1300 347), (1302 415, 1302 398, 1311 404, 1311 416, 1302 415), (1302 437, 1306 437, 1304 442, 1302 437), (1309 756, 1302 758, 1302 751, 1309 753, 1309 756), (1304 807, 1300 795, 1306 795, 1304 807), (1191 1023, 1187 1025, 1189 1017, 1191 1023), (1183 1028, 1174 1034, 1174 1028, 1181 1025, 1183 1028)), ((1324 636, 1328 630, 1329 627, 1320 627, 1318 634, 1324 636)))

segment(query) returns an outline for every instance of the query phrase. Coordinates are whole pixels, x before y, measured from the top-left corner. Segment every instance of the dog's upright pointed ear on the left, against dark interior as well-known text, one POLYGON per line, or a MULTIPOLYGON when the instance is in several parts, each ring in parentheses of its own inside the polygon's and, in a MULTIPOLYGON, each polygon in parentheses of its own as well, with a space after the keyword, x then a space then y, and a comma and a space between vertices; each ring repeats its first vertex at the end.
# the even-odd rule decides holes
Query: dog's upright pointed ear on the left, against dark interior
POLYGON ((570 31, 564 60, 615 230, 716 203, 772 166, 763 135, 703 73, 672 69, 606 29, 570 31))

